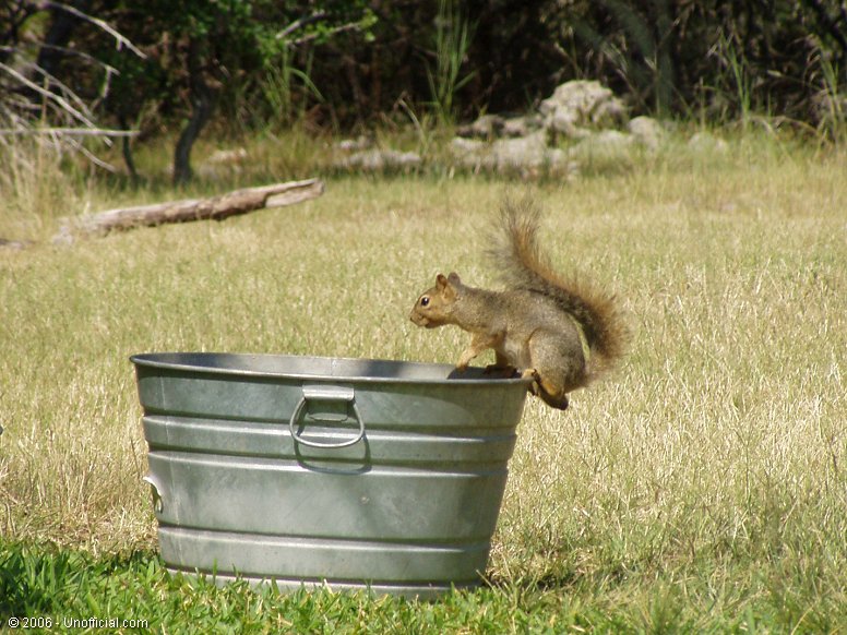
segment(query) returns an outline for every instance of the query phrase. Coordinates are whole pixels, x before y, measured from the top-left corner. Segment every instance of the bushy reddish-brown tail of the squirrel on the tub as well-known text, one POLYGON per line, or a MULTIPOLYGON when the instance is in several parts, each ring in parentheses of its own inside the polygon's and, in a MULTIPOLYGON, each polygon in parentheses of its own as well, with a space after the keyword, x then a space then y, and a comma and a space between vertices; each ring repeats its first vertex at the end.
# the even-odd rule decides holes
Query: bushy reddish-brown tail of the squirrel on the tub
POLYGON ((512 288, 552 298, 580 323, 593 354, 592 374, 608 370, 625 354, 629 330, 612 296, 603 293, 575 276, 562 278, 538 247, 540 208, 529 197, 506 199, 500 208, 500 236, 489 255, 512 288), (503 266, 505 265, 505 266, 503 266))

